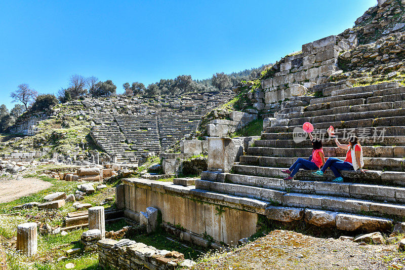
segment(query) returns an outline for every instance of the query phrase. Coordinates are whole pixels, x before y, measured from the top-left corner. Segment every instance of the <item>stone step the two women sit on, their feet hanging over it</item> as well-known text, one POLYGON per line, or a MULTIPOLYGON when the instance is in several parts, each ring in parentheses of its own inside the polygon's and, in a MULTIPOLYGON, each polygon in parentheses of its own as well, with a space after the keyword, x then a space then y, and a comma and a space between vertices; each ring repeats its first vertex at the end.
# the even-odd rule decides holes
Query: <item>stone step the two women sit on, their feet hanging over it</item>
MULTIPOLYGON (((286 170, 287 168, 275 168, 275 167, 263 167, 263 166, 253 166, 253 165, 233 165, 232 172, 242 175, 250 176, 262 176, 269 178, 285 178, 286 174, 282 173, 281 170, 286 170)), ((325 176, 322 178, 314 177, 311 173, 314 171, 299 170, 294 176, 296 180, 305 181, 325 181, 335 178, 331 170, 325 172, 325 176)), ((345 182, 354 183, 370 183, 370 184, 381 184, 381 185, 391 185, 391 186, 405 186, 405 173, 397 171, 379 171, 379 170, 366 170, 364 174, 358 174, 355 171, 341 171, 342 177, 345 182)))

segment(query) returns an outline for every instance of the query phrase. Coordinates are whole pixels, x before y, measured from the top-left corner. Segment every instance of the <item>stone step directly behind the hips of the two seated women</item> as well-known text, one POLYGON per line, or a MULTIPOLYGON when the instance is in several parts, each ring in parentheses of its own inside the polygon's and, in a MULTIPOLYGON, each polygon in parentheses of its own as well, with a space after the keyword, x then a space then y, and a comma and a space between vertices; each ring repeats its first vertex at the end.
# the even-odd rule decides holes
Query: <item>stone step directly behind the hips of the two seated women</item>
MULTIPOLYGON (((344 157, 337 157, 344 161, 344 157)), ((240 165, 257 165, 268 167, 290 167, 297 158, 275 158, 259 156, 241 156, 240 165)), ((403 158, 368 158, 364 157, 364 168, 369 170, 383 170, 388 168, 390 171, 405 171, 405 164, 402 164, 403 158)))

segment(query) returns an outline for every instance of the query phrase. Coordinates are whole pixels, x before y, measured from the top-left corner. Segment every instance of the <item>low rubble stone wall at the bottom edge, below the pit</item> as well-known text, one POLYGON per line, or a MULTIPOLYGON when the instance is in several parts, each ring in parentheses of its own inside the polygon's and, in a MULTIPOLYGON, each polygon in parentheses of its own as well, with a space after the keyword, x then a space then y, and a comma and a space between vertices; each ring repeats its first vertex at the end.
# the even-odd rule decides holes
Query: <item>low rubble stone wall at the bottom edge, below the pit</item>
MULTIPOLYGON (((104 239, 97 242, 99 265, 120 270, 169 270, 184 264, 184 255, 177 251, 158 250, 128 239, 104 239)), ((194 264, 187 260, 190 265, 194 264)), ((186 262, 187 263, 187 262, 186 262)))

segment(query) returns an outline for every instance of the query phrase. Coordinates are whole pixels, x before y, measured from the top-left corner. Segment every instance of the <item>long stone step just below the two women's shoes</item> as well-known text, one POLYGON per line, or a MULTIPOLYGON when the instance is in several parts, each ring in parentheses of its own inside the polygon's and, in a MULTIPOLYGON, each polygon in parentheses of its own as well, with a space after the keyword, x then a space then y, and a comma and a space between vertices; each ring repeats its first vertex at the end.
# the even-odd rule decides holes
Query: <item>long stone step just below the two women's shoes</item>
POLYGON ((312 181, 284 180, 240 174, 226 174, 225 182, 287 192, 405 203, 405 188, 403 187, 353 182, 326 182, 322 181, 322 178, 314 178, 312 181))

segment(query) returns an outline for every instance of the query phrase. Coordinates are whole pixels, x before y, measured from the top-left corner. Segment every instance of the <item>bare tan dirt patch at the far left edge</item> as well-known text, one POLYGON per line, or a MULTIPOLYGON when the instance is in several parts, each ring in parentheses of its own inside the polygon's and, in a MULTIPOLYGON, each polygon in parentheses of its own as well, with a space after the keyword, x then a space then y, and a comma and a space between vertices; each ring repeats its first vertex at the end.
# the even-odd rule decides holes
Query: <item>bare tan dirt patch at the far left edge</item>
POLYGON ((0 203, 14 201, 22 196, 47 189, 51 185, 50 182, 35 177, 12 178, 11 180, 0 179, 0 203))

